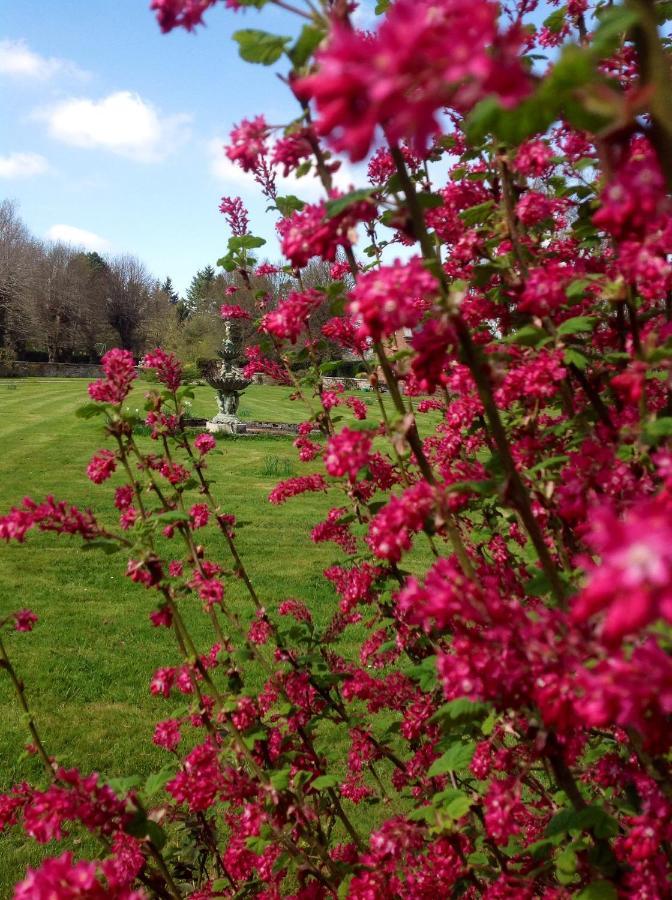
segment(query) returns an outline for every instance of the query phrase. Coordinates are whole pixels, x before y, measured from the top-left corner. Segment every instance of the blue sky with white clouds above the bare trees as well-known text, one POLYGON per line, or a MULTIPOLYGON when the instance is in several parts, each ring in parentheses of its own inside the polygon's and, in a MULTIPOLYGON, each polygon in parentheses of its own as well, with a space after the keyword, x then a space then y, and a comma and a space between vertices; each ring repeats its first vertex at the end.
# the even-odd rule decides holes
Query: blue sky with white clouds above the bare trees
MULTIPOLYGON (((292 34, 297 25, 273 8, 236 14, 222 4, 195 34, 162 35, 148 6, 3 4, 0 198, 19 203, 38 237, 133 253, 184 290, 225 251, 222 194, 246 200, 253 231, 276 253, 265 201, 221 144, 245 116, 263 112, 279 124, 298 107, 268 69, 238 58, 231 33, 292 34)), ((362 173, 348 169, 342 179, 358 185, 362 173)), ((281 188, 317 196, 315 184, 281 188)))

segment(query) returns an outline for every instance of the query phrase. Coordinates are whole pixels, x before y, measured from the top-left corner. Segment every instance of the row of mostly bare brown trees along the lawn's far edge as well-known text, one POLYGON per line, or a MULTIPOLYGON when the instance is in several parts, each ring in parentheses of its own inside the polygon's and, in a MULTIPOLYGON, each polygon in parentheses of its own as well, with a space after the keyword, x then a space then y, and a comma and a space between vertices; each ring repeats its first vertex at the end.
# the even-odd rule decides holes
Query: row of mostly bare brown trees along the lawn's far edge
MULTIPOLYGON (((321 260, 303 273, 305 287, 330 281, 329 265, 321 260)), ((223 337, 222 304, 249 310, 243 339, 256 343, 260 310, 272 309, 294 286, 282 270, 248 285, 236 272, 207 265, 180 296, 170 277, 160 281, 137 257, 40 240, 13 201, 0 203, 0 360, 96 362, 110 347, 139 357, 156 346, 186 362, 212 358, 223 337)), ((314 321, 329 318, 326 300, 319 313, 314 321)), ((331 355, 337 355, 335 347, 331 355)))

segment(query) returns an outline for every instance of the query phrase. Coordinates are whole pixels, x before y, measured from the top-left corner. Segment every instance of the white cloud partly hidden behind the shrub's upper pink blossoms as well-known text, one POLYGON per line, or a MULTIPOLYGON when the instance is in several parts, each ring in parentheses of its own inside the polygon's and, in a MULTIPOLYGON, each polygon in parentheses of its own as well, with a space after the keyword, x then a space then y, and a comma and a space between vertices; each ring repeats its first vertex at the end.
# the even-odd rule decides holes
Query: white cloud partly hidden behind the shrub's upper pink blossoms
MULTIPOLYGON (((229 188, 240 190, 243 193, 254 192, 259 193, 259 186, 254 180, 251 172, 243 172, 240 166, 233 163, 224 153, 222 145, 224 141, 221 138, 213 138, 208 141, 207 152, 210 158, 210 172, 217 181, 229 188)), ((353 187, 363 187, 368 183, 366 181, 366 169, 363 167, 353 167, 345 160, 341 161, 341 167, 334 173, 334 186, 343 192, 351 190, 353 187)), ((276 179, 276 187, 278 193, 295 194, 302 200, 315 202, 324 197, 325 192, 319 178, 313 173, 305 175, 303 178, 297 178, 290 174, 289 177, 283 178, 279 175, 276 179)))

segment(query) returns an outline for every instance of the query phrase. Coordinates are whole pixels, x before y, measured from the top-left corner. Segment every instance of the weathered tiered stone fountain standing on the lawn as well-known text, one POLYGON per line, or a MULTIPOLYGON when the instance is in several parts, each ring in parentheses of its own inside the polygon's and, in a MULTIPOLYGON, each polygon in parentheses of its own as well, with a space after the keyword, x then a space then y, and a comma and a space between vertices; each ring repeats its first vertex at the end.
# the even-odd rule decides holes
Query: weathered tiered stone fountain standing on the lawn
POLYGON ((247 430, 237 415, 240 395, 252 383, 240 368, 242 344, 240 322, 225 318, 220 359, 209 359, 200 367, 203 377, 217 393, 219 412, 205 424, 213 434, 244 434, 247 430))

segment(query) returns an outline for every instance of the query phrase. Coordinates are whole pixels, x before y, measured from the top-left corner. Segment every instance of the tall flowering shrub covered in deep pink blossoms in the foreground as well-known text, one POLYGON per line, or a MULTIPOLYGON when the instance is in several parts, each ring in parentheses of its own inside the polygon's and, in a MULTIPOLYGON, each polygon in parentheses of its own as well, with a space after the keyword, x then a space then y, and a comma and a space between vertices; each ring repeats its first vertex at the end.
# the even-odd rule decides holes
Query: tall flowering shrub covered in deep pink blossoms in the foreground
MULTIPOLYGON (((149 690, 183 705, 154 731, 171 762, 115 791, 49 757, 0 640, 45 772, 0 796, 0 829, 44 843, 75 823, 100 843, 95 860, 29 870, 15 897, 669 897, 669 4, 571 0, 540 25, 529 0, 381 0, 363 32, 353 4, 269 2, 299 17, 298 38, 234 37, 251 62, 284 54, 297 119, 279 134, 250 116, 226 152, 277 211, 296 283, 260 309, 266 349, 248 348, 247 371, 306 403, 295 447, 312 470, 269 501, 331 498, 311 537, 333 547, 332 607, 257 593, 211 490, 215 440, 184 428, 179 362, 142 362, 161 385, 145 452, 125 406, 133 359, 110 351, 80 414, 108 443, 91 481, 126 475, 119 527, 25 498, 0 537, 122 548, 151 624, 176 639, 149 690), (337 193, 333 150, 368 157, 371 186, 337 193), (276 175, 310 169, 321 201, 277 196, 276 175), (336 285, 303 285, 315 256, 336 285), (325 387, 324 338, 357 354, 377 406, 325 387), (209 555, 208 524, 228 557, 209 555), (196 598, 210 646, 182 614, 196 598)), ((152 2, 164 30, 218 5, 152 2)), ((248 287, 277 271, 256 267, 239 198, 221 208, 220 263, 248 287)), ((0 621, 36 625, 28 609, 0 621)))

